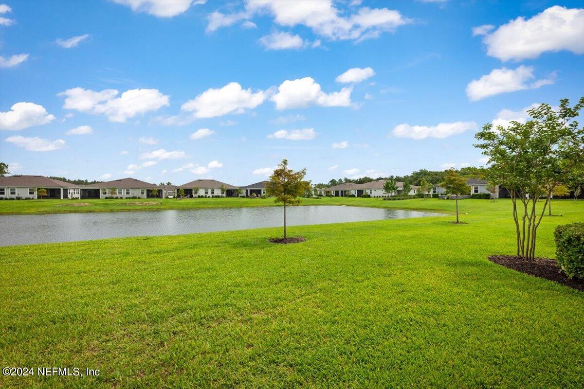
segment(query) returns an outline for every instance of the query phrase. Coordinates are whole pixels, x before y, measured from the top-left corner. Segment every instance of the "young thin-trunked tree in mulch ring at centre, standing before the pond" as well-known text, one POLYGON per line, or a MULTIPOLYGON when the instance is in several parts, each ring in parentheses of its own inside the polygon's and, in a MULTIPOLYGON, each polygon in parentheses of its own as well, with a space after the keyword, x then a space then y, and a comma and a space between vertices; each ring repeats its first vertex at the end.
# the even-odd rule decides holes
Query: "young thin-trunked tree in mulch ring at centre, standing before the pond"
POLYGON ((308 181, 304 181, 305 175, 306 169, 298 171, 288 169, 288 160, 283 159, 266 184, 266 194, 275 197, 275 202, 284 204, 284 239, 286 239, 286 205, 300 204, 300 197, 310 185, 308 181))

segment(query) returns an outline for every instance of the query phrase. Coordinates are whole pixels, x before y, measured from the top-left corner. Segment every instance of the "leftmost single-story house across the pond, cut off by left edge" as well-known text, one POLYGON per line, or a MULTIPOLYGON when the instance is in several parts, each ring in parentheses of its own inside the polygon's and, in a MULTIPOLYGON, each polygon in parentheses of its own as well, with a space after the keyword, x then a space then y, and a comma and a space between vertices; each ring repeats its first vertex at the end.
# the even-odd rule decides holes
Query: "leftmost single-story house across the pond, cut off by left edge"
POLYGON ((39 198, 37 191, 44 188, 47 195, 43 198, 79 198, 79 185, 54 180, 45 176, 14 176, 0 177, 1 198, 39 198))

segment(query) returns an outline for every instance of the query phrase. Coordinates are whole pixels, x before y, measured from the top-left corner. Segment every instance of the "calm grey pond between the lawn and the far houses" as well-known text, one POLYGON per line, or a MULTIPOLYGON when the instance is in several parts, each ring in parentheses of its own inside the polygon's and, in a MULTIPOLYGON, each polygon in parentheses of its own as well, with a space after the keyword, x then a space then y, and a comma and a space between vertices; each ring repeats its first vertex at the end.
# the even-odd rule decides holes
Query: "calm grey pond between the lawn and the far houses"
MULTIPOLYGON (((283 225, 281 207, 208 208, 166 211, 54 213, 0 216, 0 246, 124 236, 178 235, 283 225)), ((420 218, 440 213, 356 206, 287 208, 288 226, 420 218)))

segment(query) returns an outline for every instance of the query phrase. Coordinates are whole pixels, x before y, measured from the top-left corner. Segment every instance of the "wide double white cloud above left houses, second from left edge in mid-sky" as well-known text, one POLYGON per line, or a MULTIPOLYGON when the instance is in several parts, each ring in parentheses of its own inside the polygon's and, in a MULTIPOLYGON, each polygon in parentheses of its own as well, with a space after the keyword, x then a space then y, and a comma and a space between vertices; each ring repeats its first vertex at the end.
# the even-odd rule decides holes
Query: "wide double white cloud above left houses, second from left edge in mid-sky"
POLYGON ((126 122, 135 115, 169 106, 169 97, 158 89, 130 89, 116 97, 115 89, 96 92, 81 87, 67 89, 57 96, 65 96, 63 108, 90 114, 104 114, 113 122, 126 122))

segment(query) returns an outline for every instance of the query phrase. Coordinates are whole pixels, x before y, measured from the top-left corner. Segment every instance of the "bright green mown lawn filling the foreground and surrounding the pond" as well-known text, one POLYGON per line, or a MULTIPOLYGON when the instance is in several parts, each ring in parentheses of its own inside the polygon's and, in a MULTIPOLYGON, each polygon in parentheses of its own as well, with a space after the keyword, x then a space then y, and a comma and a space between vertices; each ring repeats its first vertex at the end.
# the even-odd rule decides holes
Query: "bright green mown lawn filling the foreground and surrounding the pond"
MULTIPOLYGON (((217 201, 201 200, 184 203, 217 201)), ((486 260, 514 252, 509 206, 461 201, 467 225, 289 227, 307 241, 287 246, 259 229, 2 247, 0 364, 101 375, 0 387, 581 388, 584 293, 486 260)), ((584 220, 584 201, 554 201, 554 213, 539 256, 554 257, 554 227, 584 220)))

